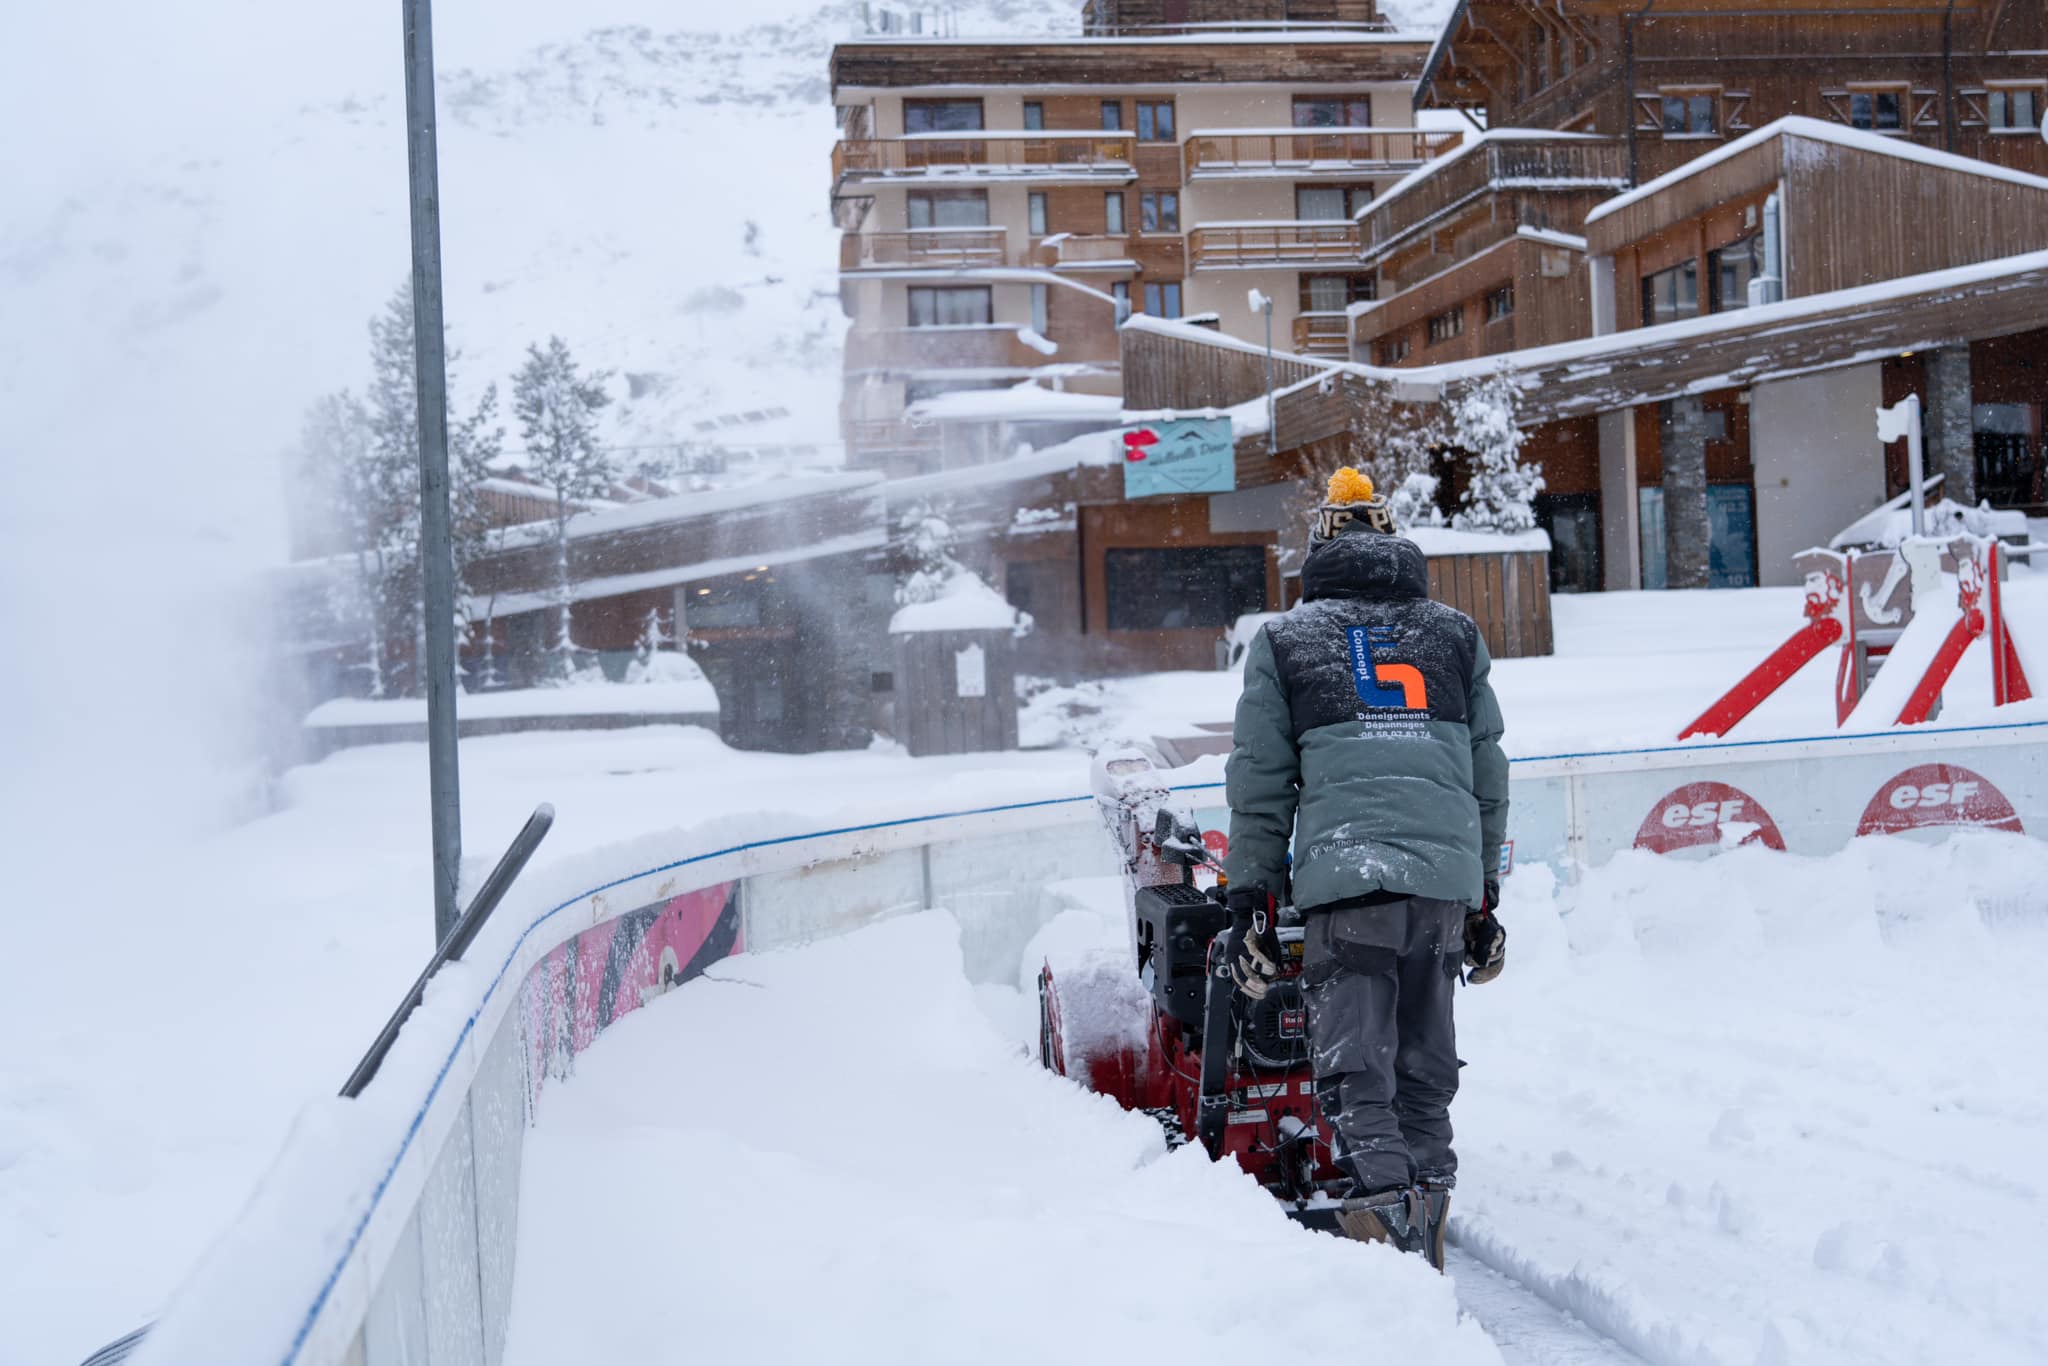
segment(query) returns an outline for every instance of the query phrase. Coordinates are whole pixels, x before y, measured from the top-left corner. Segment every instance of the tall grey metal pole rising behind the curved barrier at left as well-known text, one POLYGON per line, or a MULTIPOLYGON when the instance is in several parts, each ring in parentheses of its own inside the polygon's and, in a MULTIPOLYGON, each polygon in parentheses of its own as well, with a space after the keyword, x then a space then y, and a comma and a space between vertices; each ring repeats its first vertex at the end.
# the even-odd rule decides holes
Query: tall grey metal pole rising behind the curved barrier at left
POLYGON ((455 758, 455 543, 449 528, 449 356, 440 324, 440 164, 432 0, 403 0, 406 162, 412 170, 412 348, 420 393, 420 586, 426 610, 426 772, 434 825, 434 942, 455 930, 463 799, 455 758))

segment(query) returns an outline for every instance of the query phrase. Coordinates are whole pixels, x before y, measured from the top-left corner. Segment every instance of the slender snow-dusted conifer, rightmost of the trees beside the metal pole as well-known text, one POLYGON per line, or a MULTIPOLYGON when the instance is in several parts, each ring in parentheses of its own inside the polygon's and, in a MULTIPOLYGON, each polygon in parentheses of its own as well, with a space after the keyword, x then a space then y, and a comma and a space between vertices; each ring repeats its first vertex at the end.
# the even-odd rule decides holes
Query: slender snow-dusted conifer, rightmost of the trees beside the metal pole
POLYGON ((528 346, 512 379, 512 414, 526 442, 535 479, 555 492, 555 682, 575 674, 578 645, 569 621, 569 516, 571 502, 610 492, 612 469, 598 446, 598 412, 610 403, 606 371, 580 375, 559 336, 547 348, 528 346))

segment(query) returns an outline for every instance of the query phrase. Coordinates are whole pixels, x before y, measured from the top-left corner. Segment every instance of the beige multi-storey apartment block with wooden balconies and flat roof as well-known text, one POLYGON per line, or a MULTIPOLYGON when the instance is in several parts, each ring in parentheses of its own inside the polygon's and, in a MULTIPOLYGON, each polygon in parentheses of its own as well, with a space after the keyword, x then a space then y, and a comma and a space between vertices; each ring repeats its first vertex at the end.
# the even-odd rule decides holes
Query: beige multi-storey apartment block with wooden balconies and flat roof
POLYGON ((938 395, 1120 393, 1128 313, 1264 344, 1255 289, 1278 350, 1346 354, 1346 309, 1374 289, 1356 211, 1458 141, 1413 127, 1430 35, 1389 31, 1370 0, 1096 0, 1077 20, 834 49, 852 463, 989 459, 1044 412, 991 395, 987 424, 913 422, 938 395))

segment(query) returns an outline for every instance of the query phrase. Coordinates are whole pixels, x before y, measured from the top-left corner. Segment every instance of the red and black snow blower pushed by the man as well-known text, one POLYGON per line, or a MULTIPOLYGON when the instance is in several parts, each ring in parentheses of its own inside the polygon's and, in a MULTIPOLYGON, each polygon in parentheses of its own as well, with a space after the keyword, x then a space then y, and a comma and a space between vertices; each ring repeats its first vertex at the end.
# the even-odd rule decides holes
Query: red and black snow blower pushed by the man
POLYGON ((1096 801, 1124 868, 1128 958, 1038 973, 1040 1061, 1153 1114, 1167 1143, 1237 1161, 1296 1221, 1335 1229, 1341 1190, 1309 1067, 1300 915, 1278 911, 1280 981, 1249 999, 1225 963, 1225 889, 1192 815, 1141 750, 1106 750, 1096 801))

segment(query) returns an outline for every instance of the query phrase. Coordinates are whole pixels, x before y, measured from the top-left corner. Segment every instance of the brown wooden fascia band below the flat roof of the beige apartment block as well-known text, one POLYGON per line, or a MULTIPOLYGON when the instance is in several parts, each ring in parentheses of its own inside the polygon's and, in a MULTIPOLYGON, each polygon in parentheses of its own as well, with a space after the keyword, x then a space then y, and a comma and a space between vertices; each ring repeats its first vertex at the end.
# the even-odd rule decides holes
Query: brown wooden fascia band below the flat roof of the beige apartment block
MULTIPOLYGON (((831 88, 922 86, 1192 86, 1192 84, 1372 84, 1413 82, 1430 43, 840 43, 831 88)), ((846 102, 840 98, 840 102, 846 102)))

